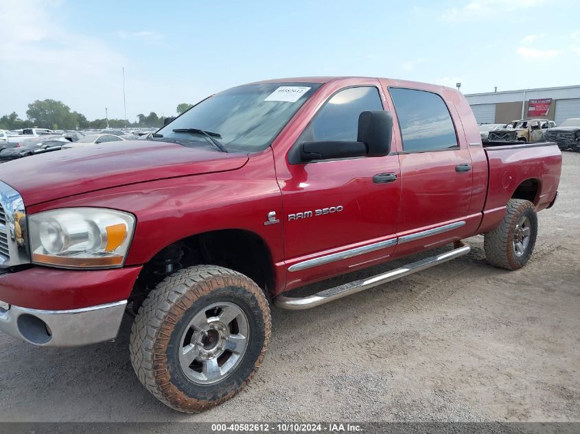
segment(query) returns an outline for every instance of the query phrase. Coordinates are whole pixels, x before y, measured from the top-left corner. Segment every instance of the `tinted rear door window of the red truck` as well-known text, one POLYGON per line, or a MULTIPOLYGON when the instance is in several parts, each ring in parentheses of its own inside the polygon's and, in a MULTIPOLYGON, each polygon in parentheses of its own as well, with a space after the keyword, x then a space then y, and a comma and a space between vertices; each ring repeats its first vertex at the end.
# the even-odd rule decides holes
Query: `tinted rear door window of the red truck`
POLYGON ((459 149, 451 114, 436 93, 389 88, 405 152, 459 149))

